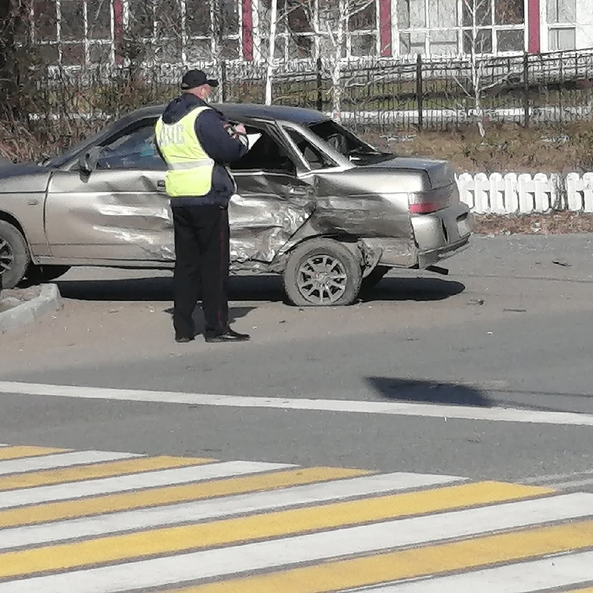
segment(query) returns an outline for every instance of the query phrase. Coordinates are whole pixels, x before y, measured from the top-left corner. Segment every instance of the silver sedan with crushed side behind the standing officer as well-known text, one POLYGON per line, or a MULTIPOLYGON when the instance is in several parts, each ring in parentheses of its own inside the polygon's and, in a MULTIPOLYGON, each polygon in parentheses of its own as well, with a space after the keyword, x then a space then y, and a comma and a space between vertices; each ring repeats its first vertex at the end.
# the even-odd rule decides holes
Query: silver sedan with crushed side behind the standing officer
MULTIPOLYGON (((231 273, 283 275, 295 305, 347 305, 393 267, 435 264, 467 247, 468 207, 447 161, 380 152, 324 114, 216 105, 253 145, 231 165, 231 273)), ((163 107, 117 120, 58 158, 0 167, 5 288, 71 266, 172 268, 163 107)))

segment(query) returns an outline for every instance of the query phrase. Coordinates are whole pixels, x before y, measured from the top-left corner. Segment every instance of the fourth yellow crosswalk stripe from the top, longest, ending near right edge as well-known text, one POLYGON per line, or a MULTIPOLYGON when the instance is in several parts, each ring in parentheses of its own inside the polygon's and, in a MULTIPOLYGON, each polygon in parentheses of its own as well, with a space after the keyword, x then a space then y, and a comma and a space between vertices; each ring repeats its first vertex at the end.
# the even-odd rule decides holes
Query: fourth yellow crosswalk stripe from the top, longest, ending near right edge
POLYGON ((550 492, 537 486, 481 482, 100 537, 90 541, 2 553, 0 578, 262 541, 428 512, 533 498, 550 492))

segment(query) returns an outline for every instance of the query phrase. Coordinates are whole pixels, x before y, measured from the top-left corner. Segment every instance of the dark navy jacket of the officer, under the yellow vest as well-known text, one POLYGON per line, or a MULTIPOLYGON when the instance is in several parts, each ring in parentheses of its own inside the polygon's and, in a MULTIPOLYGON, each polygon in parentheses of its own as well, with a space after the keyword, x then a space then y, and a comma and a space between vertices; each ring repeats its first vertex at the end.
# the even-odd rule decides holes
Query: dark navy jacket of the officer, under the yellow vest
POLYGON ((237 139, 231 138, 224 129, 226 120, 222 113, 213 109, 205 101, 190 93, 183 93, 167 105, 162 114, 162 121, 176 123, 196 107, 208 106, 196 118, 196 136, 202 148, 215 162, 212 173, 212 189, 206 196, 183 196, 171 200, 171 206, 216 205, 227 206, 235 186, 225 165, 238 160, 247 152, 247 147, 237 139))

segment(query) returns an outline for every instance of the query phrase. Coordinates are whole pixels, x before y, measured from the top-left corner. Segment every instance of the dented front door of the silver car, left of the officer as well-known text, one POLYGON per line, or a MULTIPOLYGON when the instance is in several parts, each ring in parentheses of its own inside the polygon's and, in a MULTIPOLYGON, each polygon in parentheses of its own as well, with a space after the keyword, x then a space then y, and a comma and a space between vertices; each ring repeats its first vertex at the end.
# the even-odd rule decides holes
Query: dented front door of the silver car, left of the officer
MULTIPOLYGON (((101 153, 90 174, 57 171, 46 202, 53 257, 148 262, 174 260, 173 221, 164 190, 166 165, 152 122, 101 153)), ((106 148, 106 147, 104 147, 106 148)))

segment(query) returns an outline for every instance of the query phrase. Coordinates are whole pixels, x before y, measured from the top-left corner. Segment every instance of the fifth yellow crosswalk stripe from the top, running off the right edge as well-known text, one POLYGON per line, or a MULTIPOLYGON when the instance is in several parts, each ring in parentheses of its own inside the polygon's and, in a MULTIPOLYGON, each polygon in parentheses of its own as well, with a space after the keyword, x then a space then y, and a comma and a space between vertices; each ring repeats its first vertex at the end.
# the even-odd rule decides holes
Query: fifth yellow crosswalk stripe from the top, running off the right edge
POLYGON ((266 575, 170 589, 171 593, 329 593, 401 579, 476 569, 593 546, 593 521, 487 535, 266 575))

